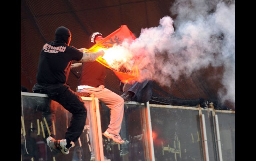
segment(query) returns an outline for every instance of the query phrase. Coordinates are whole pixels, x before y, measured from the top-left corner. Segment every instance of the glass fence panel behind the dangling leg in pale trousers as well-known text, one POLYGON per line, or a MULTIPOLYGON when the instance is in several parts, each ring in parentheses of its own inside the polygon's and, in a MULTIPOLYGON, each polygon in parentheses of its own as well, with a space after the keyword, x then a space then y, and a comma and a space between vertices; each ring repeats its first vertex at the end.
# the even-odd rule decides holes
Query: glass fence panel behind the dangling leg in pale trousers
MULTIPOLYGON (((110 121, 110 110, 101 104, 101 128, 105 132, 110 121)), ((125 141, 116 144, 103 136, 104 155, 111 161, 144 161, 145 148, 143 143, 143 128, 141 110, 144 105, 124 105, 124 116, 120 136, 125 141)))

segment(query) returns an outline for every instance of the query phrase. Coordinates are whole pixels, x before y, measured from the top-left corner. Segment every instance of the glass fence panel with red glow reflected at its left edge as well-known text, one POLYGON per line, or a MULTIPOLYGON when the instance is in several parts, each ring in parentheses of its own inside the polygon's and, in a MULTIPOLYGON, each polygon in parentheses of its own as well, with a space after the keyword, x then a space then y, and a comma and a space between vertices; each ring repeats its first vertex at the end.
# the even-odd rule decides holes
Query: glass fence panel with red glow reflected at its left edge
POLYGON ((156 161, 203 161, 199 111, 151 107, 156 161))

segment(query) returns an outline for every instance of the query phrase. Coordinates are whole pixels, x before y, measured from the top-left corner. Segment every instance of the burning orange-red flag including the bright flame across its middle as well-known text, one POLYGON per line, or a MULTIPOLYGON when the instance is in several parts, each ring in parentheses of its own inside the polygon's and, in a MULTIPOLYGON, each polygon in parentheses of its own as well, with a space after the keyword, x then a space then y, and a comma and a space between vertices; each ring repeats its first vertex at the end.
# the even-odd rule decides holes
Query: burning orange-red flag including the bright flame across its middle
MULTIPOLYGON (((122 47, 114 47, 114 44, 130 44, 132 40, 135 40, 135 36, 127 28, 126 25, 121 25, 119 29, 100 40, 97 44, 88 49, 88 52, 94 53, 99 50, 105 51, 105 56, 98 57, 97 62, 101 63, 105 67, 114 71, 115 75, 124 83, 129 80, 138 81, 138 75, 133 75, 133 68, 137 66, 134 62, 130 61, 132 53, 137 50, 131 49, 129 45, 122 47), (113 48, 112 48, 113 47, 113 48), (110 49, 112 48, 112 49, 110 49)), ((135 72, 136 73, 136 72, 135 72)))

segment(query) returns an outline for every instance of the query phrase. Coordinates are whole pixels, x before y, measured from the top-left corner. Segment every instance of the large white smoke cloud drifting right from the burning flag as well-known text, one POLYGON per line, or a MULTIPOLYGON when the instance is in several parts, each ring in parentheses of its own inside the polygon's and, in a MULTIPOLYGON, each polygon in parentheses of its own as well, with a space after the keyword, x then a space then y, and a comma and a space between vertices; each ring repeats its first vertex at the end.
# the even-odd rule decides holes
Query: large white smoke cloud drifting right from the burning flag
POLYGON ((148 68, 153 80, 166 86, 171 78, 210 64, 224 66, 219 96, 235 104, 235 1, 179 0, 171 12, 175 21, 165 16, 158 27, 142 29, 139 38, 123 46, 133 56, 145 49, 148 56, 139 68, 148 68))

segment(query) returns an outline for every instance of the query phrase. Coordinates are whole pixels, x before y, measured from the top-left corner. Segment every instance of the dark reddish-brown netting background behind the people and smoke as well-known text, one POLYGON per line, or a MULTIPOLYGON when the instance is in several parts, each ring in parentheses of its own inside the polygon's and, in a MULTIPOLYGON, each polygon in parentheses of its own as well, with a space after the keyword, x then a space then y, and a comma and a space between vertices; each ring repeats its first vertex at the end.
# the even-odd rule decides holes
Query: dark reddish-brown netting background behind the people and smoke
MULTIPOLYGON (((108 35, 121 25, 140 35, 142 28, 159 25, 165 15, 174 21, 176 15, 170 11, 173 0, 21 0, 21 85, 32 92, 36 83, 39 53, 42 46, 54 40, 55 29, 65 26, 72 33, 71 46, 88 46, 92 32, 108 35)), ((96 72, 97 69, 95 69, 96 72)), ((172 80, 171 86, 161 87, 154 82, 150 103, 173 104, 172 98, 204 98, 214 102, 218 109, 234 109, 233 105, 218 101, 218 90, 222 88, 223 67, 209 66, 194 71, 191 76, 172 80)), ((77 85, 77 70, 70 72, 68 84, 72 90, 77 85)), ((111 70, 107 70, 105 85, 121 94, 120 81, 111 70)))

